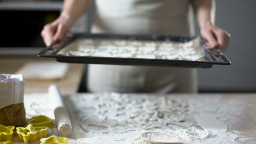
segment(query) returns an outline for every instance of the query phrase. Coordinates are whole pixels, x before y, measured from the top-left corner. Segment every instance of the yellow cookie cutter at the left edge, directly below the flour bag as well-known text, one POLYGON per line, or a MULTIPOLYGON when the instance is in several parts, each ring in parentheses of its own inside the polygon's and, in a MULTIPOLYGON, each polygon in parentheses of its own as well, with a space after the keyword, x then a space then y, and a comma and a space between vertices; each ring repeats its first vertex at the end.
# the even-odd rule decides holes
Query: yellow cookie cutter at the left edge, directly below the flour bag
POLYGON ((11 141, 13 139, 13 130, 15 126, 0 125, 0 141, 11 141))

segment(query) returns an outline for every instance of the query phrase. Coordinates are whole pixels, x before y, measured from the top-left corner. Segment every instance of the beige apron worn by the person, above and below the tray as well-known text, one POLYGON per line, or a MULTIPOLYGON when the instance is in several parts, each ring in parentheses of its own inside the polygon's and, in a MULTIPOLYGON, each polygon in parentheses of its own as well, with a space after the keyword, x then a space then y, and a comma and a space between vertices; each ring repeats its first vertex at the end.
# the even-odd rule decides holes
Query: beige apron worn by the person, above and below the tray
MULTIPOLYGON (((93 33, 190 35, 189 0, 96 0, 93 33)), ((88 65, 89 92, 196 93, 195 69, 88 65)))

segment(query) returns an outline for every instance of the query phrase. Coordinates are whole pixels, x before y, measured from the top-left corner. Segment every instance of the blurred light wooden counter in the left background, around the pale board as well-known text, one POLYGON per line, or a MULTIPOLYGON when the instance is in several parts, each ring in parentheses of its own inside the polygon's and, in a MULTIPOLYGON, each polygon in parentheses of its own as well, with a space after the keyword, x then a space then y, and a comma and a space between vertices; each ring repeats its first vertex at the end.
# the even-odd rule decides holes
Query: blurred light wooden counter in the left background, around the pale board
MULTIPOLYGON (((37 57, 3 57, 0 58, 0 73, 14 74, 27 62, 54 61, 53 59, 37 58, 37 57)), ((69 64, 67 76, 60 80, 26 80, 25 93, 46 93, 48 86, 56 84, 63 94, 77 93, 82 80, 84 64, 69 64)))

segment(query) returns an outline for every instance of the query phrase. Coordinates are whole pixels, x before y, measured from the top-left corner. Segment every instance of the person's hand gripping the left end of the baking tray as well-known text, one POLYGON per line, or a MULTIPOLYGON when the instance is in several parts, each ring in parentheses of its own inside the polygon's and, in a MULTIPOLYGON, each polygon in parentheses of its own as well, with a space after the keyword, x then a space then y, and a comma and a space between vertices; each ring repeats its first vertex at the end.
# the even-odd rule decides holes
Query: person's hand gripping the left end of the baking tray
POLYGON ((49 46, 55 40, 63 40, 71 25, 72 20, 64 14, 55 21, 46 24, 41 32, 45 45, 49 46))

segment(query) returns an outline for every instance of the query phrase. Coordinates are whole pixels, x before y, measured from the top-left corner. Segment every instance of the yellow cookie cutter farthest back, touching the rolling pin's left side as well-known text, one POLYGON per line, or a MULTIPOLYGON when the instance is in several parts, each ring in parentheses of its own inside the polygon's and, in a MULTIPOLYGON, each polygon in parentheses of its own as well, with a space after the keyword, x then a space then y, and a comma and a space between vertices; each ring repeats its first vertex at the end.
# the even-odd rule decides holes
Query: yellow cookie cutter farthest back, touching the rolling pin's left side
POLYGON ((31 124, 33 126, 46 126, 48 128, 53 127, 53 120, 51 120, 49 117, 46 117, 45 115, 38 115, 35 117, 32 117, 28 124, 31 124))

